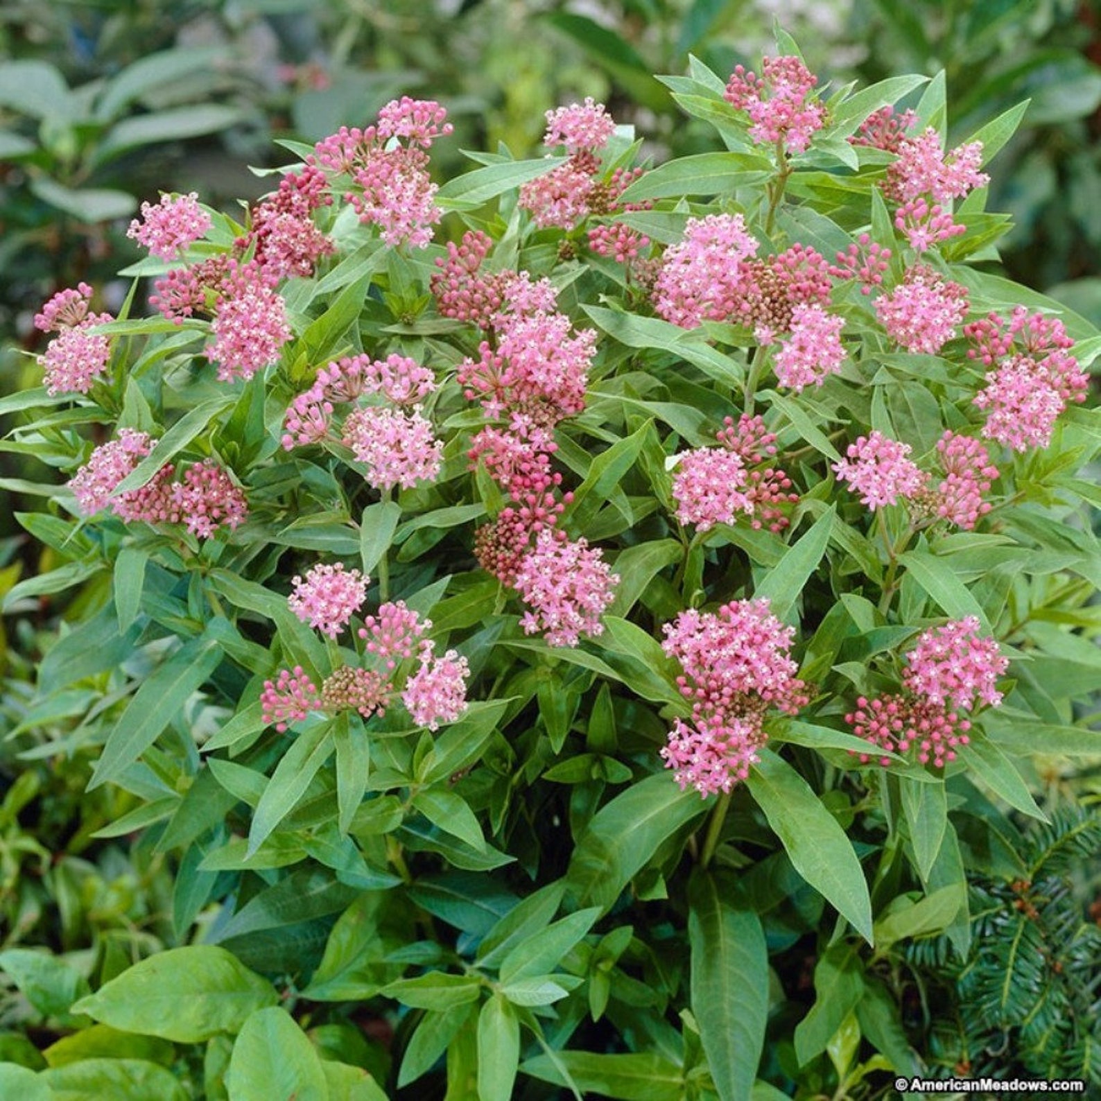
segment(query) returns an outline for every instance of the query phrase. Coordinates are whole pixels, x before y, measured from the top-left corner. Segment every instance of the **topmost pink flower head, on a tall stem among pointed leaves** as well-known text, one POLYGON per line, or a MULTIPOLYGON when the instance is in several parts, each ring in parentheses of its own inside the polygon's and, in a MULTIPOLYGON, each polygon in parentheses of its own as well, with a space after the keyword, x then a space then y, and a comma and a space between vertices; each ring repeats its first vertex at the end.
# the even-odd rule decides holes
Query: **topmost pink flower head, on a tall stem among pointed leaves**
POLYGON ((783 142, 789 153, 803 153, 826 122, 826 108, 810 96, 817 77, 800 58, 765 57, 762 75, 739 65, 730 76, 723 98, 745 111, 750 137, 762 145, 783 142))

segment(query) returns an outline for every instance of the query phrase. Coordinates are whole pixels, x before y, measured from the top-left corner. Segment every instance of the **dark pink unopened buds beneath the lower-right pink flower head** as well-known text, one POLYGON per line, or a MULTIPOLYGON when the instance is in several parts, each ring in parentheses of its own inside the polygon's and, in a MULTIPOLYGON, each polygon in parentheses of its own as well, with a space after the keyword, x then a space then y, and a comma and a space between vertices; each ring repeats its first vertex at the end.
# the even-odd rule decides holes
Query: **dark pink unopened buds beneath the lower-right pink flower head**
POLYGON ((861 764, 877 757, 879 764, 890 766, 892 759, 876 752, 886 750, 942 768, 956 760, 956 750, 971 740, 968 719, 927 699, 906 696, 887 694, 871 700, 861 696, 844 721, 858 738, 869 742, 869 752, 858 754, 861 764))

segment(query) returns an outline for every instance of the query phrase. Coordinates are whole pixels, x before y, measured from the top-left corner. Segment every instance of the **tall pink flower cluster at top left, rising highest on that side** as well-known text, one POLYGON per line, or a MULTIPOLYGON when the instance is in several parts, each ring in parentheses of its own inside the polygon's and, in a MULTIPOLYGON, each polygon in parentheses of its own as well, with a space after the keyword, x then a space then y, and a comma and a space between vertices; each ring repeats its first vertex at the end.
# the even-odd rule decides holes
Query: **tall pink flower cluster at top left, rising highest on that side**
POLYGON ((351 177, 345 199, 360 221, 379 227, 386 244, 424 248, 443 216, 434 201, 438 188, 428 176, 426 151, 451 132, 446 118, 435 100, 403 96, 379 111, 374 126, 341 127, 318 142, 309 163, 351 177))

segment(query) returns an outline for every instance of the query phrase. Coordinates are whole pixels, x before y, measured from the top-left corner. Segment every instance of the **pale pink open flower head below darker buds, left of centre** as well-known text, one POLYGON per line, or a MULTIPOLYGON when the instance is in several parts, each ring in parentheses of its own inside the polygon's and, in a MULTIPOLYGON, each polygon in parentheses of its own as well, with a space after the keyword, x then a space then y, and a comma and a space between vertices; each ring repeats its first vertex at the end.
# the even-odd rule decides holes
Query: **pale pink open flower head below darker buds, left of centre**
POLYGON ((367 480, 380 490, 412 489, 439 476, 442 440, 414 410, 370 405, 352 410, 345 419, 344 443, 367 466, 367 480))

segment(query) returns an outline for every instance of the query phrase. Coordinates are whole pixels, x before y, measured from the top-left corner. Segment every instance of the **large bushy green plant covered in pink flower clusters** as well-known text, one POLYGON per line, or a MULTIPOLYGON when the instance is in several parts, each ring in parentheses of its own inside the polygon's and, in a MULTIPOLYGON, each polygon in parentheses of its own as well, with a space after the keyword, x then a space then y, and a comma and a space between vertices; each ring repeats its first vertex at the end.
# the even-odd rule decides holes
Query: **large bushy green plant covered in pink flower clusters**
POLYGON ((1101 751, 1101 336, 980 266, 1022 110, 952 146, 942 78, 781 51, 667 78, 724 149, 656 167, 589 100, 437 186, 395 100, 242 221, 143 207, 118 318, 43 307, 8 446, 67 472, 62 564, 7 608, 84 586, 46 744, 176 854, 183 945, 74 1010, 195 1091, 917 1072, 905 942, 966 956, 1032 759, 1101 751))

